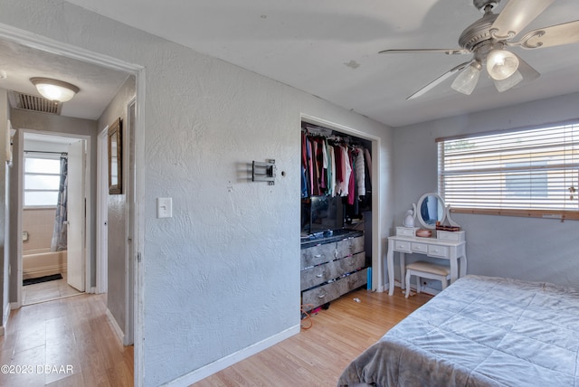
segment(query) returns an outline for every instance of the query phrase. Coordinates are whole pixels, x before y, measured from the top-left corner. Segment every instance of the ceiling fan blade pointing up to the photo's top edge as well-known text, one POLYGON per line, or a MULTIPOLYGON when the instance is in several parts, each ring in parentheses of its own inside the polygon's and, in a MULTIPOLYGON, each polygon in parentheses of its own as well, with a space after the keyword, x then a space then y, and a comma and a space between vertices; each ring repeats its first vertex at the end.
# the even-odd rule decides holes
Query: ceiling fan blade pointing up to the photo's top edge
POLYGON ((555 0, 509 0, 490 27, 494 37, 509 40, 520 33, 555 0))

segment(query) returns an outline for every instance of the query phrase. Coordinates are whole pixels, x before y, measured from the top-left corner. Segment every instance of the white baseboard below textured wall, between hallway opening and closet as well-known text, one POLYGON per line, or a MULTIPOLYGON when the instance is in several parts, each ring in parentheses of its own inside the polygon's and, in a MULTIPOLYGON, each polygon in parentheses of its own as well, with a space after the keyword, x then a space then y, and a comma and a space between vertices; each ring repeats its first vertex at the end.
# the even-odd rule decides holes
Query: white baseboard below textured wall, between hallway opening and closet
POLYGON ((213 363, 209 363, 204 365, 201 368, 196 369, 191 373, 185 373, 185 375, 180 376, 171 382, 166 382, 163 384, 164 386, 169 387, 176 387, 176 386, 184 386, 190 385, 195 382, 199 382, 202 379, 206 378, 207 376, 211 376, 214 373, 218 373, 223 369, 233 365, 234 363, 241 362, 243 359, 247 359, 248 357, 252 356, 253 354, 258 354, 264 349, 271 347, 272 345, 276 345, 283 340, 291 337, 292 335, 299 334, 300 326, 292 326, 285 331, 281 331, 277 335, 272 335, 271 337, 266 338, 265 340, 261 340, 259 343, 255 343, 254 345, 250 345, 246 348, 243 348, 241 351, 238 351, 234 354, 229 354, 219 360, 214 361, 213 363))

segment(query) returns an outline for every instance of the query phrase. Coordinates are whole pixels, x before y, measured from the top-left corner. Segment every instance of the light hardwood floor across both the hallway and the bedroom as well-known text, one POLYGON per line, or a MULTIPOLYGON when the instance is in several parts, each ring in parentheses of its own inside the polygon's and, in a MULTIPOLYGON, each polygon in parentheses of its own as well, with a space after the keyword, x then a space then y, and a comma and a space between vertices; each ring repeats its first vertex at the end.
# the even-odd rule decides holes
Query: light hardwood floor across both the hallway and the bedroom
MULTIPOLYGON (((429 299, 424 294, 404 298, 399 288, 394 297, 357 290, 312 316, 310 329, 194 386, 335 386, 347 363, 429 299)), ((309 325, 308 320, 302 323, 309 325)), ((30 374, 0 373, 0 386, 133 385, 133 347, 121 345, 109 325, 106 295, 14 310, 0 337, 0 351, 0 365, 33 367, 30 374)))

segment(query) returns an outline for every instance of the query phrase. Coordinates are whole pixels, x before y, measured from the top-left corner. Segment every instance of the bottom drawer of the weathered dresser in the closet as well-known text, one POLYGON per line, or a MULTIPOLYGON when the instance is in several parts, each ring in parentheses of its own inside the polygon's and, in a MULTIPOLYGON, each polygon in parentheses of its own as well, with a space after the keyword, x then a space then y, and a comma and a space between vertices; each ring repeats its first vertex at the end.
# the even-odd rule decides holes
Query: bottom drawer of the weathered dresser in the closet
POLYGON ((346 294, 350 290, 363 286, 366 283, 366 279, 366 269, 356 271, 356 273, 339 278, 329 284, 303 292, 301 294, 301 304, 307 305, 307 307, 304 307, 306 310, 319 307, 346 294))

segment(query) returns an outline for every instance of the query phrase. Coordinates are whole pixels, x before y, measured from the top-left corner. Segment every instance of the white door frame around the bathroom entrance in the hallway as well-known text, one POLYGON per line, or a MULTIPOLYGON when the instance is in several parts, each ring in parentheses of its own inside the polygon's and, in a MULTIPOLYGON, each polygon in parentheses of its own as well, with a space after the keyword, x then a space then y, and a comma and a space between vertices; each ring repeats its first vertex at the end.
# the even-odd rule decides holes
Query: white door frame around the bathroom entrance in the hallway
MULTIPOLYGON (((62 132, 52 132, 52 131, 45 131, 45 130, 35 130, 35 129, 20 129, 18 130, 18 155, 19 155, 19 162, 18 162, 18 178, 17 180, 17 191, 18 191, 18 208, 17 208, 17 227, 16 232, 18 235, 22 235, 23 232, 23 221, 22 215, 24 211, 24 201, 23 201, 23 193, 24 193, 24 135, 30 133, 35 135, 42 135, 42 136, 56 136, 56 137, 69 137, 79 140, 85 141, 85 157, 86 159, 90 160, 90 136, 85 135, 76 135, 71 133, 62 133, 62 132)), ((84 168, 84 198, 86 203, 90 203, 90 190, 87 189, 87 176, 90 176, 90 163, 85 164, 84 168)), ((86 293, 91 293, 90 291, 90 249, 87 249, 92 242, 90 237, 91 232, 91 217, 90 212, 86 213, 85 216, 85 238, 84 238, 84 250, 85 250, 85 272, 84 272, 84 288, 86 293)), ((18 258, 18 266, 17 266, 17 294, 16 294, 16 303, 14 307, 22 307, 23 306, 23 276, 24 276, 24 266, 23 266, 23 241, 21 238, 18 239, 18 245, 16 246, 16 253, 18 258)))

